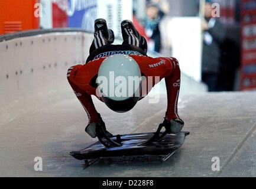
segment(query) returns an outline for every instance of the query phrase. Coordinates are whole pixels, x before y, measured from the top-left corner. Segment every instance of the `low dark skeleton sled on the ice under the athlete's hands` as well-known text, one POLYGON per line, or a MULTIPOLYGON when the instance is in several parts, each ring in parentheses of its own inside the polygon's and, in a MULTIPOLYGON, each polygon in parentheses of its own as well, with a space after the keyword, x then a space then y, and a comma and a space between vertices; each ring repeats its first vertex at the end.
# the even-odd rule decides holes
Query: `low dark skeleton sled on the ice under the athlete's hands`
POLYGON ((107 136, 102 128, 96 129, 99 141, 80 151, 70 152, 74 158, 85 160, 89 167, 100 158, 129 156, 158 156, 167 161, 179 149, 189 132, 161 132, 161 126, 155 133, 135 133, 107 136))

